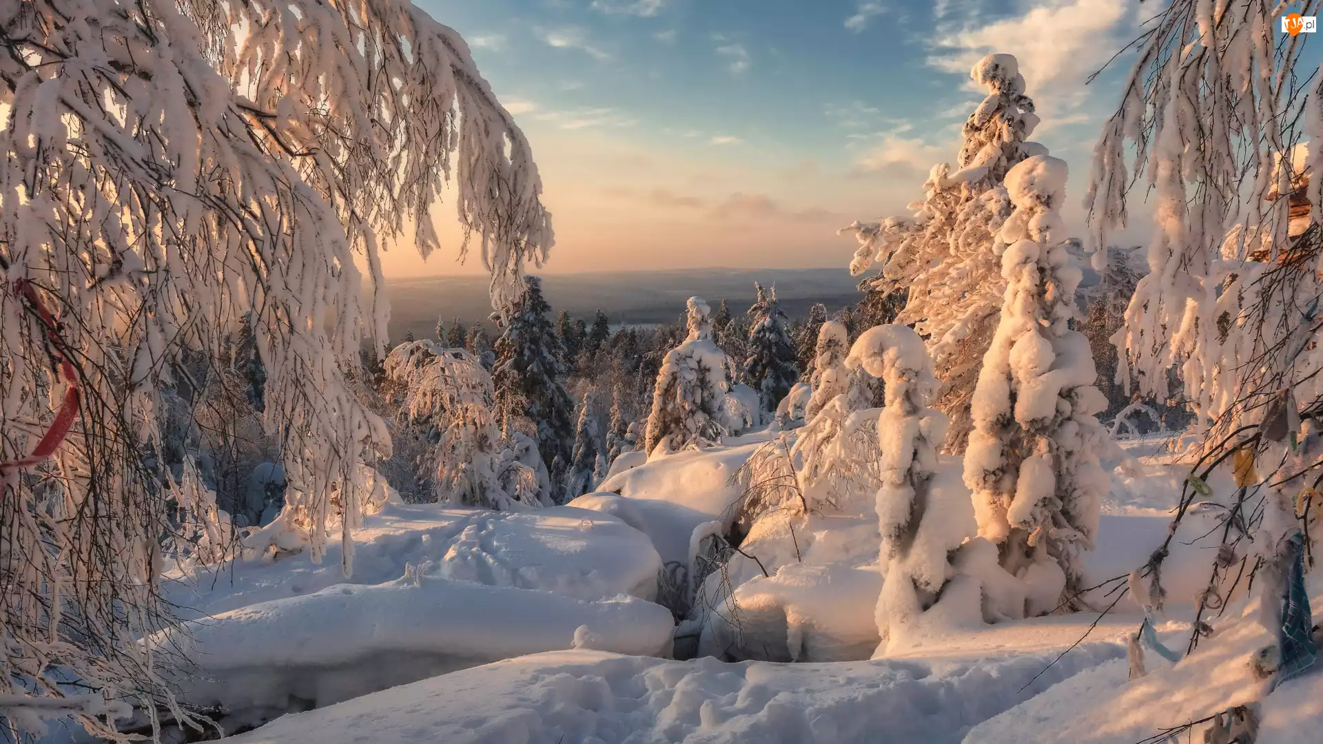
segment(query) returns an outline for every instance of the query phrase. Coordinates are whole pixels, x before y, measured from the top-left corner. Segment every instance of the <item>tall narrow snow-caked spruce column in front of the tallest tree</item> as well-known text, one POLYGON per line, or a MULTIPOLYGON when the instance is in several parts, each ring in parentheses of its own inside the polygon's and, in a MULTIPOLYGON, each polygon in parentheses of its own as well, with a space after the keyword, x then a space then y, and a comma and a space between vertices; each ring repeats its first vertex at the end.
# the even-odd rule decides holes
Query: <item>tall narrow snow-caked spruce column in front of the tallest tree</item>
POLYGON ((1093 548, 1109 488, 1098 465, 1106 433, 1094 416, 1107 401, 1094 387, 1089 339, 1070 327, 1081 270, 1057 214, 1065 183, 1065 162, 1045 155, 1007 175, 1015 213, 996 246, 1005 301, 964 454, 979 535, 1024 580, 1031 614, 1082 589, 1082 553, 1093 548))

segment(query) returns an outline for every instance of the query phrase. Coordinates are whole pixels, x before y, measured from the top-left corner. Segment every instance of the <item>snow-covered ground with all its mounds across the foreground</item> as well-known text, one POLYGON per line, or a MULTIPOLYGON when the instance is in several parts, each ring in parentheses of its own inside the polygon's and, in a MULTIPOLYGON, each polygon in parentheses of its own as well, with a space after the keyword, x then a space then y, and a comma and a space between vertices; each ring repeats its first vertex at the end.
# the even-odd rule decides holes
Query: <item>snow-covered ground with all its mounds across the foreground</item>
MULTIPOLYGON (((1130 601, 1095 628, 1095 613, 987 625, 869 661, 882 575, 867 511, 759 519, 747 556, 708 577, 700 628, 677 631, 648 601, 659 571, 691 564, 696 531, 729 526, 730 477, 766 438, 631 463, 572 507, 389 504, 357 535, 348 581, 337 547, 321 564, 180 576, 172 597, 197 618, 181 645, 204 671, 191 700, 242 711, 230 731, 270 720, 234 739, 249 744, 1132 744, 1261 694, 1245 659, 1267 637, 1244 597, 1192 658, 1150 661, 1135 682, 1130 601), (696 631, 703 655, 668 658, 672 633, 696 631)), ((1176 459, 1158 437, 1113 453, 1091 580, 1129 573, 1166 537, 1176 459)), ((937 477, 959 487, 959 461, 942 458, 937 477)), ((1191 543, 1209 519, 1187 518, 1164 565, 1156 628, 1172 647, 1208 580, 1191 543)), ((1258 744, 1299 741, 1291 732, 1323 719, 1315 676, 1267 699, 1258 744)))

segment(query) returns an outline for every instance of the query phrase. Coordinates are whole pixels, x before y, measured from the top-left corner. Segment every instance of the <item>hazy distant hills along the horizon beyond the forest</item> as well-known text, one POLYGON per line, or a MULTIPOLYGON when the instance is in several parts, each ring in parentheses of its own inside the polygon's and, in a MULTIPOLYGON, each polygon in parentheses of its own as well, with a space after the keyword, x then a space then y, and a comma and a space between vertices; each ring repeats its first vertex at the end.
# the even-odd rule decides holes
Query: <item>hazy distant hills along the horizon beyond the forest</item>
MULTIPOLYGON (((857 279, 845 269, 687 269, 606 274, 550 274, 542 278, 546 299, 556 312, 568 310, 591 318, 602 308, 613 324, 669 323, 684 314, 684 301, 699 295, 716 304, 725 299, 732 312, 744 312, 754 301, 754 281, 775 285, 781 306, 791 318, 808 314, 822 302, 835 312, 859 302, 857 279)), ((483 277, 427 277, 386 282, 390 294, 390 338, 409 331, 430 338, 437 318, 459 318, 464 324, 491 314, 483 277)))

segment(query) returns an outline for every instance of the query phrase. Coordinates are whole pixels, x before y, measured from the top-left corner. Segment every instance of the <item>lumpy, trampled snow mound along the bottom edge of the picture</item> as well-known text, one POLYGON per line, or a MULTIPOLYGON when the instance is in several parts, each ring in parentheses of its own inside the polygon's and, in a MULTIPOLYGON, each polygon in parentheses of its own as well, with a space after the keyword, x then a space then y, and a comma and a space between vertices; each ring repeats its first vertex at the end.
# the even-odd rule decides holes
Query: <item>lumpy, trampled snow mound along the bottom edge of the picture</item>
POLYGON ((509 659, 286 716, 235 744, 955 744, 1119 645, 1052 655, 837 665, 672 662, 589 651, 509 659))

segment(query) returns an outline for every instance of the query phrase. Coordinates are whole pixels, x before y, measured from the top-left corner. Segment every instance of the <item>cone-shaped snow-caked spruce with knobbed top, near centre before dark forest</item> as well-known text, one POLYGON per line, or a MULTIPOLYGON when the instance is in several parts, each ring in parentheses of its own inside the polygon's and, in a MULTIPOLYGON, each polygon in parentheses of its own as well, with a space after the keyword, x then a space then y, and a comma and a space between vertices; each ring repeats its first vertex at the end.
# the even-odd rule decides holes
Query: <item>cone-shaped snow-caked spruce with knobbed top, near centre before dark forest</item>
POLYGON ((687 307, 689 335, 667 352, 652 388, 652 414, 644 434, 650 457, 714 442, 722 434, 726 355, 712 342, 708 303, 691 297, 687 307))

